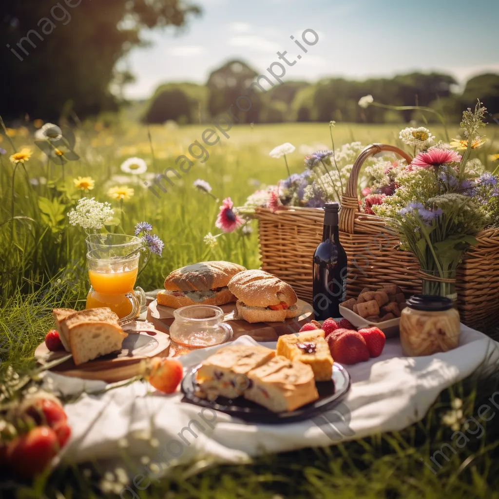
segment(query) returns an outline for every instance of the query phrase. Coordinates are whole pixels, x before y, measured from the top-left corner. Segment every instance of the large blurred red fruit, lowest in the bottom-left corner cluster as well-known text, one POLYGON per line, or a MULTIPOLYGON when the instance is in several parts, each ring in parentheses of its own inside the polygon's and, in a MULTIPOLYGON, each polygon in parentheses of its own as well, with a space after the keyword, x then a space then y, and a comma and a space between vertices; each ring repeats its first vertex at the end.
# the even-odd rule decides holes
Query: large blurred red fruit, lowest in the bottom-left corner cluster
POLYGON ((19 478, 31 478, 45 470, 58 448, 55 432, 48 426, 37 426, 8 444, 7 460, 19 478))

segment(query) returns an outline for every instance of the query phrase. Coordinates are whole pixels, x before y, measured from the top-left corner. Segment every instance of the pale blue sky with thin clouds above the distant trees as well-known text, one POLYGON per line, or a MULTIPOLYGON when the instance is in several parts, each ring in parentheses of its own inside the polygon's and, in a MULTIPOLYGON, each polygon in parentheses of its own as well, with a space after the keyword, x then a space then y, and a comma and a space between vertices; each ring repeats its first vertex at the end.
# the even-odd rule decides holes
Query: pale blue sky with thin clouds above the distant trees
POLYGON ((300 39, 306 28, 319 40, 287 68, 287 81, 412 70, 449 72, 465 81, 499 72, 498 0, 192 1, 203 8, 200 17, 180 29, 144 33, 151 46, 123 61, 137 78, 127 97, 148 97, 165 81, 204 83, 232 58, 262 73, 278 60, 278 50, 293 59, 300 53, 289 36, 300 39))

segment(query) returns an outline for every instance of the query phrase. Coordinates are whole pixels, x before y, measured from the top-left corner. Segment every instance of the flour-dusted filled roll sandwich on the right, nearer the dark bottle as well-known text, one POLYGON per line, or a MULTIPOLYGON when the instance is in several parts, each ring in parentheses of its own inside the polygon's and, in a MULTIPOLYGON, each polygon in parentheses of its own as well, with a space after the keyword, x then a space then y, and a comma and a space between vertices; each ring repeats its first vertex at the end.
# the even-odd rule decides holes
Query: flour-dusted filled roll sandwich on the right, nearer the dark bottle
POLYGON ((239 272, 230 280, 229 290, 238 298, 238 313, 247 322, 282 322, 301 313, 293 288, 263 270, 239 272))

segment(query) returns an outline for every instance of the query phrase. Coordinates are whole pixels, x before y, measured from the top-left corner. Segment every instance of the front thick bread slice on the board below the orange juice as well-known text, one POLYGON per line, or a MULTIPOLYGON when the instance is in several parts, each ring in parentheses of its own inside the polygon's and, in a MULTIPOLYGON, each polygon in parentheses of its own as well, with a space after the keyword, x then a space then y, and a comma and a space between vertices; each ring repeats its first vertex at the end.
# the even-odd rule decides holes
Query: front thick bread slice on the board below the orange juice
POLYGON ((75 365, 121 350, 127 336, 128 333, 113 323, 78 322, 69 328, 69 346, 75 365))

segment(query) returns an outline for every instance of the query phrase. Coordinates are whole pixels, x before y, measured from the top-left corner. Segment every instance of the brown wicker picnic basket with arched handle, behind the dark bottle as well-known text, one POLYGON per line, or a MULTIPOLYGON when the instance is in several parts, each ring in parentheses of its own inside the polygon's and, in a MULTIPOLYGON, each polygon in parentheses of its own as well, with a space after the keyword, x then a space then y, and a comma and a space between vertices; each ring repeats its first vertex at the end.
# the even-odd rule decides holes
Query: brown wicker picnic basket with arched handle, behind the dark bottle
MULTIPOLYGON (((372 144, 357 158, 342 197, 340 241, 348 256, 347 294, 357 296, 365 287, 398 284, 407 293, 421 292, 421 269, 416 257, 398 249, 399 238, 379 217, 359 211, 357 184, 364 161, 390 151, 409 163, 411 156, 385 144, 372 144)), ((291 284, 303 300, 312 301, 312 256, 322 239, 324 211, 289 208, 272 213, 256 210, 262 269, 291 284)), ((478 236, 457 271, 458 308, 463 323, 487 327, 499 312, 499 229, 478 236)))

